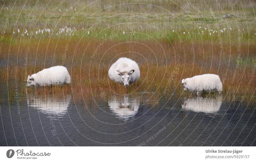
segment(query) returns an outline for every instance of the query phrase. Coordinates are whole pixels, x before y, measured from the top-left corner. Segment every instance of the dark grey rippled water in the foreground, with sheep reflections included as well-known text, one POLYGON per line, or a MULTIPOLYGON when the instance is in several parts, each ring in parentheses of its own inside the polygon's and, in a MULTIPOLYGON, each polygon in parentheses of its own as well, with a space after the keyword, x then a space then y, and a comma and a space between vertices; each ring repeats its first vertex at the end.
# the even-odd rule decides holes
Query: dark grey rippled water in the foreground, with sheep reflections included
POLYGON ((27 95, 19 105, 0 102, 1 146, 256 145, 255 104, 222 96, 94 96, 84 104, 72 94, 27 95))

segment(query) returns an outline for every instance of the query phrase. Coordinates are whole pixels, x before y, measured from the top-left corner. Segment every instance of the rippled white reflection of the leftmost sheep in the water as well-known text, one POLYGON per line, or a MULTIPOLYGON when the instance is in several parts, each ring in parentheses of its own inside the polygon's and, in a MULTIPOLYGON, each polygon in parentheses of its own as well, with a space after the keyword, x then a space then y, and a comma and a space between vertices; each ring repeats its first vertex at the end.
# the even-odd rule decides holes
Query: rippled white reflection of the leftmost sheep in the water
POLYGON ((27 103, 29 108, 35 108, 43 114, 50 114, 52 118, 60 118, 67 113, 71 100, 70 95, 64 97, 56 96, 35 96, 28 95, 27 103))

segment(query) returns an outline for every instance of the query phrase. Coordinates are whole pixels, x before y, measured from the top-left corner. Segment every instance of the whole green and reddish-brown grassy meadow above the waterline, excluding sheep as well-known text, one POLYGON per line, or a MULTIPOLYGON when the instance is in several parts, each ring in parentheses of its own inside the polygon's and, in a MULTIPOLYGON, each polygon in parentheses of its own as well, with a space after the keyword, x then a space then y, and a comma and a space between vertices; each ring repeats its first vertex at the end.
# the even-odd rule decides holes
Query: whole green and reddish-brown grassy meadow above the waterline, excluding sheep
POLYGON ((195 8, 187 1, 0 2, 0 100, 12 101, 17 92, 20 99, 27 93, 179 98, 191 95, 182 79, 205 73, 220 76, 227 100, 256 99, 254 1, 191 1, 195 8), (108 79, 119 57, 140 67, 129 91, 108 79), (56 65, 68 68, 71 85, 26 88, 28 74, 56 65))

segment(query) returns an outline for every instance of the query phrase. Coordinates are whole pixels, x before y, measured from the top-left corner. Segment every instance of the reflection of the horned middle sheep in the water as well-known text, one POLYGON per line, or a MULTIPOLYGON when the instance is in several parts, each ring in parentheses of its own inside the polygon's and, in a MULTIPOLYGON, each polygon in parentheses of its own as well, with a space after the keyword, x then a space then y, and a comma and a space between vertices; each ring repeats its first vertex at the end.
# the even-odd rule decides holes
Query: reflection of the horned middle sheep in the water
POLYGON ((108 101, 108 106, 118 118, 128 120, 134 117, 139 110, 139 99, 124 97, 112 97, 108 101))

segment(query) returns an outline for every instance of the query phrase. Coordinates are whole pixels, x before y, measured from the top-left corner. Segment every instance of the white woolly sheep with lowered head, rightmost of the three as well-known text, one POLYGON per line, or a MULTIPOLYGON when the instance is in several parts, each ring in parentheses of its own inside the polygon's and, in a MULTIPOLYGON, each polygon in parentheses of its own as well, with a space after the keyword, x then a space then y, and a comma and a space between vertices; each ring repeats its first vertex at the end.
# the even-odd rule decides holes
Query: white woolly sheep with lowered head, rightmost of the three
POLYGON ((200 91, 217 90, 219 94, 222 92, 220 77, 215 74, 196 75, 192 78, 182 79, 181 83, 185 91, 196 91, 197 95, 200 91))

